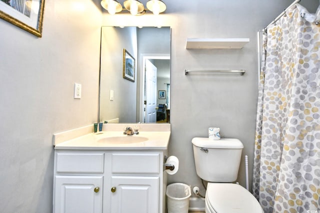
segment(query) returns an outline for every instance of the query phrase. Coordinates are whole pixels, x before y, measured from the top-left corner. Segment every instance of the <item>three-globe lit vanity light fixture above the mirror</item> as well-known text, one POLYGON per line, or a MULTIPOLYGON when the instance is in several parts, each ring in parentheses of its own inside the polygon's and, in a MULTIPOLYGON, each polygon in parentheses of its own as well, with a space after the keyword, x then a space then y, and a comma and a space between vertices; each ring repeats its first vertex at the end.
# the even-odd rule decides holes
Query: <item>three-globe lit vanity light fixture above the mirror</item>
POLYGON ((145 11, 149 10, 153 14, 157 15, 164 12, 166 5, 161 0, 148 0, 146 2, 146 8, 138 0, 125 0, 123 6, 116 0, 101 0, 101 6, 108 11, 109 14, 115 14, 121 12, 123 9, 129 11, 132 15, 143 15, 145 11))

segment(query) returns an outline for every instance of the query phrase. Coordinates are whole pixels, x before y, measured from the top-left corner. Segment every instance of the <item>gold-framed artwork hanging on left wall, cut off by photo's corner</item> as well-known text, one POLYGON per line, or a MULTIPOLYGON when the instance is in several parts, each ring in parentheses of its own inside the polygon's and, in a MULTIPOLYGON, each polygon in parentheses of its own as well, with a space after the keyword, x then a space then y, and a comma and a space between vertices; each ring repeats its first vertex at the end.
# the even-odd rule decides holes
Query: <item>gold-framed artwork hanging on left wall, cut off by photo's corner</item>
POLYGON ((44 0, 0 0, 0 18, 42 36, 44 0))

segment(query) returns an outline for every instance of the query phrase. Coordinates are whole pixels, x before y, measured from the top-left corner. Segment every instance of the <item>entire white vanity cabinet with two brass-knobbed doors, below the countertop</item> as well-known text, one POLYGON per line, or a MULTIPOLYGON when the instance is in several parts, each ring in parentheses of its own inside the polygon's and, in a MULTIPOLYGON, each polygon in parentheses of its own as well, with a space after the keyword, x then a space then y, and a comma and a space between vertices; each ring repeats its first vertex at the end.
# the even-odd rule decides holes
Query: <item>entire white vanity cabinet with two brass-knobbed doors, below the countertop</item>
POLYGON ((53 212, 164 213, 164 149, 55 149, 53 212))

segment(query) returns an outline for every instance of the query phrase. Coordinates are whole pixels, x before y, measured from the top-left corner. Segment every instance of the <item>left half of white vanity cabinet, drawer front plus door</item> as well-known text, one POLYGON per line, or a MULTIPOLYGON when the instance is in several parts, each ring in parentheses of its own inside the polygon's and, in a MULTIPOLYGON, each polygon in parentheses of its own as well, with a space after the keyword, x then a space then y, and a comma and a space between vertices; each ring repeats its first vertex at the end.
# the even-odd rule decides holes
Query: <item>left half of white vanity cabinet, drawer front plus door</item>
POLYGON ((56 150, 53 212, 102 212, 104 153, 56 150))

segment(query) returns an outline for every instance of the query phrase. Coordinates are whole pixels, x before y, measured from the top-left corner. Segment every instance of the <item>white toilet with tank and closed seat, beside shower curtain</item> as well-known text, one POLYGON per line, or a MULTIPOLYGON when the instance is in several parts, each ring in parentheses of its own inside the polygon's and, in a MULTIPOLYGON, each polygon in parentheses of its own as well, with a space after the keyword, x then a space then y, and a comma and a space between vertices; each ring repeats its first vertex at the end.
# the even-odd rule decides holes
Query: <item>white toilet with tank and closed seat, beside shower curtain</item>
POLYGON ((196 174, 208 181, 206 213, 263 213, 259 202, 236 183, 243 144, 235 138, 192 138, 196 174))

